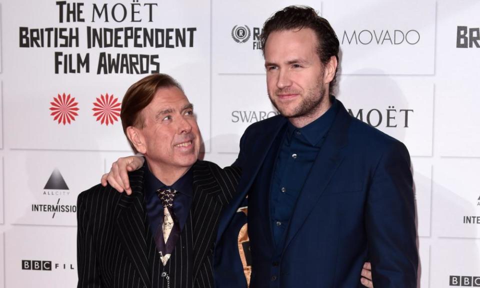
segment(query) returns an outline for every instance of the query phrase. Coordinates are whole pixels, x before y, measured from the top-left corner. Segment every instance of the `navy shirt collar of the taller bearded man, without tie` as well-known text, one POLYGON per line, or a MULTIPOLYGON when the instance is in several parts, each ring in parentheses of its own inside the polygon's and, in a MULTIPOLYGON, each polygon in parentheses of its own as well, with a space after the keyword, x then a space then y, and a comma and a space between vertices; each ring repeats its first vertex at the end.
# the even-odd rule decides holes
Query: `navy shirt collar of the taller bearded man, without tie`
POLYGON ((299 132, 298 136, 301 140, 305 140, 311 146, 319 145, 321 143, 320 140, 323 138, 323 136, 325 136, 326 132, 333 123, 333 120, 335 119, 338 104, 334 96, 330 96, 330 101, 330 108, 328 108, 323 115, 304 127, 297 128, 288 121, 286 131, 288 142, 291 142, 291 137, 294 133, 299 132))

